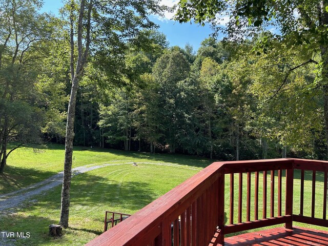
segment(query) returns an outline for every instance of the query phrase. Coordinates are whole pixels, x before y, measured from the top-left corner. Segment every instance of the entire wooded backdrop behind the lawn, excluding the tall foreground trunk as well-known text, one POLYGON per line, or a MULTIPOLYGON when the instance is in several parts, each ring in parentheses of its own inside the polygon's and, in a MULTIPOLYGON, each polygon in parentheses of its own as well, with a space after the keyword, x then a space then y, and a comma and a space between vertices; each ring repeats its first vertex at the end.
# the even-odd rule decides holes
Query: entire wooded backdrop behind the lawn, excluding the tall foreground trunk
POLYGON ((24 144, 64 144, 82 45, 90 47, 76 73, 75 146, 220 160, 326 159, 320 54, 283 44, 268 30, 238 43, 213 36, 198 50, 171 47, 156 25, 132 21, 128 9, 72 38, 70 28, 82 27, 78 7, 67 2, 59 18, 40 13, 39 1, 2 1, 0 172, 24 144), (16 147, 7 150, 9 142, 16 147))

